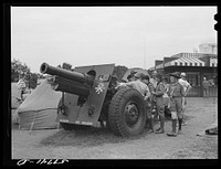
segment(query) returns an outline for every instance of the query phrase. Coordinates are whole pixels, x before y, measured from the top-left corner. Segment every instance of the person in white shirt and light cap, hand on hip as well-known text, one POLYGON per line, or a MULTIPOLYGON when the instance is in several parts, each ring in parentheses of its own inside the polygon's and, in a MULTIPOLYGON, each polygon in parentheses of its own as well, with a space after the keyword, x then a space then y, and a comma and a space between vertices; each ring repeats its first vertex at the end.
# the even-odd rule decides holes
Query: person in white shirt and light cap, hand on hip
MULTIPOLYGON (((185 88, 185 95, 187 96, 188 93, 189 93, 189 91, 190 91, 190 88, 191 88, 191 85, 187 82, 187 75, 186 75, 185 72, 182 72, 180 74, 180 77, 181 78, 179 78, 178 82, 185 88)), ((183 126, 187 125, 187 123, 186 123, 186 116, 185 116, 186 106, 187 106, 187 99, 186 99, 186 97, 182 97, 182 115, 183 115, 182 125, 183 126)))

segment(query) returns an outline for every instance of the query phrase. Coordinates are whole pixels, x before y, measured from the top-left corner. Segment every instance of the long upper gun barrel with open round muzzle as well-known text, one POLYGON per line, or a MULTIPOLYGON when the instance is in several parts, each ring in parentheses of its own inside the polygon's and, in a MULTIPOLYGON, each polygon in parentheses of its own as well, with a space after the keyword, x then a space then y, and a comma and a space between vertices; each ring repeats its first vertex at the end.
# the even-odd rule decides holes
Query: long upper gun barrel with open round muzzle
POLYGON ((43 74, 48 73, 50 75, 57 75, 62 78, 78 82, 82 84, 92 85, 94 83, 94 76, 92 75, 83 74, 80 72, 71 72, 71 71, 66 71, 60 67, 54 67, 54 66, 49 65, 48 63, 42 63, 40 67, 40 72, 43 74))

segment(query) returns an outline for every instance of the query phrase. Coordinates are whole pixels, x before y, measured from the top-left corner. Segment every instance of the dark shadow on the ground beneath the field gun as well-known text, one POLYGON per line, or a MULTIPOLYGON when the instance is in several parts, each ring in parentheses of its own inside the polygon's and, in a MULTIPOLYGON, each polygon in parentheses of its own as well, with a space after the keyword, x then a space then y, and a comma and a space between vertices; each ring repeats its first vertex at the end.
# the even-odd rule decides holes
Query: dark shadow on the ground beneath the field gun
POLYGON ((140 137, 144 136, 145 134, 141 134, 136 137, 124 138, 120 136, 115 136, 107 128, 82 127, 74 130, 60 129, 54 135, 42 139, 40 146, 92 147, 92 146, 101 146, 103 144, 126 142, 134 139, 139 139, 140 137))

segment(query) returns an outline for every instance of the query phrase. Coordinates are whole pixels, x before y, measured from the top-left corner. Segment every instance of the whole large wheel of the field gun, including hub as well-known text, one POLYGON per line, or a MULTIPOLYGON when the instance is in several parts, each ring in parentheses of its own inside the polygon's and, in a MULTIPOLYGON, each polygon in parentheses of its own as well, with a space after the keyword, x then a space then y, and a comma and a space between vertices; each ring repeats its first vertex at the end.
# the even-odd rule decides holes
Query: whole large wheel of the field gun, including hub
POLYGON ((112 98, 108 123, 115 135, 130 137, 139 135, 146 125, 144 97, 133 88, 122 88, 112 98))

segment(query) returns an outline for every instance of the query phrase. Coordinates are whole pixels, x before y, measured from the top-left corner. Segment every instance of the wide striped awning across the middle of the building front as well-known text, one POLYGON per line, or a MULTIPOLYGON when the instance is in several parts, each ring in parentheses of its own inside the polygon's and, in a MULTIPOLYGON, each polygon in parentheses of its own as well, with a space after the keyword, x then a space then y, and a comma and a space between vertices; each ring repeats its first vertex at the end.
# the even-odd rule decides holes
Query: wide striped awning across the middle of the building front
POLYGON ((204 62, 197 57, 179 57, 171 62, 165 63, 165 67, 167 66, 204 66, 204 62))

